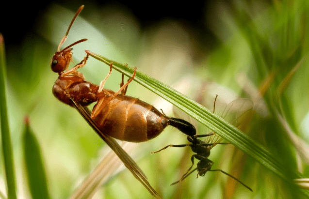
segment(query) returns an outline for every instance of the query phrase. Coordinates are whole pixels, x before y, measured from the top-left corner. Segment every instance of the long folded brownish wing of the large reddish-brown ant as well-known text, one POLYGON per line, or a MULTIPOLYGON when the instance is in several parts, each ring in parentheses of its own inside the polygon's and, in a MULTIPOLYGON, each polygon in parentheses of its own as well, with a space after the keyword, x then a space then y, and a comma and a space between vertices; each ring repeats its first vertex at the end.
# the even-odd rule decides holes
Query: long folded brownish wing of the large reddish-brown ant
POLYGON ((154 190, 154 188, 149 184, 147 181, 146 175, 143 173, 141 168, 137 166, 137 164, 134 162, 134 160, 126 153, 119 144, 111 137, 105 135, 102 133, 96 123, 91 120, 89 109, 85 109, 85 107, 82 107, 80 104, 75 102, 72 98, 71 100, 74 102, 74 106, 77 108, 77 110, 81 113, 82 117, 89 123, 89 125, 96 131, 98 136, 100 136, 106 144, 111 147, 111 149, 116 153, 116 155, 120 158, 120 160, 123 162, 123 164, 131 171, 133 176, 143 184, 146 189, 149 191, 149 193, 154 196, 156 199, 161 199, 162 197, 154 190))

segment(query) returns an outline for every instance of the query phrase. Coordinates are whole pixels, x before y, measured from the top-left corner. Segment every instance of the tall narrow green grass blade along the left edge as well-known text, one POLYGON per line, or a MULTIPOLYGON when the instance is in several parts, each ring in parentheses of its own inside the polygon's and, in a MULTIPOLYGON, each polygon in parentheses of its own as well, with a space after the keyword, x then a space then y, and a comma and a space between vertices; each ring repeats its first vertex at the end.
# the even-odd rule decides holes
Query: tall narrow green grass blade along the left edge
POLYGON ((15 168, 12 150, 12 141, 10 136, 9 121, 6 107, 5 94, 5 48, 2 34, 0 34, 0 123, 1 123, 1 138, 2 150, 4 157, 4 167, 7 183, 7 194, 9 199, 16 199, 16 183, 15 183, 15 168))

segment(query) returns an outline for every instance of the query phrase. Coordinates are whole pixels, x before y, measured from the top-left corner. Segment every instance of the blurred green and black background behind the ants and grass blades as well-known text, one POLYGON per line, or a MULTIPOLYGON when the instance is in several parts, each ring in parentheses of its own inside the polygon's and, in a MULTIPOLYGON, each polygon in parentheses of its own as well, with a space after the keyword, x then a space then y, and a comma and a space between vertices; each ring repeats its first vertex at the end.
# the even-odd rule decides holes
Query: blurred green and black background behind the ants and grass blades
MULTIPOLYGON (((210 109, 215 94, 227 103, 235 96, 251 98, 255 111, 242 130, 268 148, 287 169, 308 176, 309 2, 151 3, 54 1, 34 7, 21 4, 16 10, 12 4, 8 9, 17 20, 1 17, 10 18, 1 24, 0 32, 6 44, 8 116, 18 198, 31 198, 22 146, 25 116, 41 148, 51 198, 69 198, 107 150, 80 114, 51 92, 58 75, 50 70, 50 60, 81 4, 85 8, 64 44, 88 39, 74 46, 74 63, 85 56, 84 49, 91 50, 137 67, 210 109), (262 93, 262 103, 258 92, 262 93), (282 127, 277 110, 292 134, 282 127)), ((108 70, 107 65, 92 58, 80 69, 96 84, 108 70)), ((121 74, 113 71, 105 88, 116 91, 120 81, 121 74)), ((130 84, 127 94, 173 115, 169 103, 136 82, 130 84)), ((200 133, 208 132, 198 128, 200 133)), ((170 186, 190 167, 192 152, 185 148, 150 152, 182 143, 187 143, 186 137, 169 127, 153 140, 133 144, 130 153, 164 199, 302 197, 291 184, 233 146, 216 146, 211 151, 212 168, 237 176, 253 193, 217 172, 197 179, 194 173, 170 186)), ((0 154, 0 191, 5 193, 0 154)), ((150 197, 128 170, 111 178, 95 195, 107 199, 150 197)))

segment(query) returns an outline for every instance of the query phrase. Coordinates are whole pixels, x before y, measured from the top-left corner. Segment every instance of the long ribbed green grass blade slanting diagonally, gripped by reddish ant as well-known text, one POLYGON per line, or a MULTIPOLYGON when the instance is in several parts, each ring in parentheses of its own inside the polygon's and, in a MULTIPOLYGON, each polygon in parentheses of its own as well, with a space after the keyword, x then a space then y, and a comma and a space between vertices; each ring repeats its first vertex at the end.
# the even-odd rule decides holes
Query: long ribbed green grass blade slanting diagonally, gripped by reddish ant
MULTIPOLYGON (((110 62, 113 62, 113 68, 128 77, 131 77, 133 74, 133 69, 121 63, 109 60, 88 50, 86 50, 86 53, 95 59, 106 63, 107 65, 110 65, 110 62)), ((285 167, 261 144, 255 142, 242 131, 215 115, 212 111, 189 99, 185 95, 138 71, 136 72, 134 80, 145 86, 150 91, 155 92, 176 107, 179 107, 191 117, 195 118, 197 121, 201 122, 206 127, 228 140, 241 151, 250 155, 260 164, 273 171, 276 175, 284 180, 287 180, 287 182, 292 182, 291 179, 286 177, 287 172, 293 172, 293 178, 303 178, 303 175, 297 171, 287 171, 285 167)), ((309 197, 309 190, 301 191, 309 197)))

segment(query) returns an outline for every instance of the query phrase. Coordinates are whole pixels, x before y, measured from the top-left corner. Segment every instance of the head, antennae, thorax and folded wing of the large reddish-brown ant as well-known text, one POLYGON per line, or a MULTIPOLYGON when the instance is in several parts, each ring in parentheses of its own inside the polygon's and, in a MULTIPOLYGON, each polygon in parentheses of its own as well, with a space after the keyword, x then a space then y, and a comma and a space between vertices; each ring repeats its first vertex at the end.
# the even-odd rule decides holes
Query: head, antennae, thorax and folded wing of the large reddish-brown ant
POLYGON ((136 179, 138 179, 149 191, 149 193, 157 199, 161 199, 160 195, 153 189, 153 187, 147 181, 146 175, 143 171, 136 165, 136 163, 131 159, 131 157, 126 153, 119 144, 112 138, 106 136, 96 123, 90 118, 90 111, 85 106, 89 105, 92 102, 98 100, 97 92, 98 86, 92 84, 91 82, 85 81, 83 75, 76 71, 79 67, 85 65, 88 55, 75 67, 70 70, 66 70, 72 61, 72 46, 79 44, 87 39, 81 39, 67 47, 63 50, 60 50, 61 46, 64 44, 68 32, 76 19, 83 9, 83 5, 78 9, 74 18, 72 19, 68 30, 65 33, 64 38, 61 40, 58 50, 51 60, 51 69, 52 71, 59 74, 58 79, 56 80, 52 92, 54 95, 65 104, 76 107, 84 119, 91 125, 91 127, 96 131, 98 136, 100 136, 106 144, 111 147, 111 149, 116 153, 116 155, 121 159, 124 165, 131 171, 136 179), (66 71, 65 71, 66 70, 66 71))

